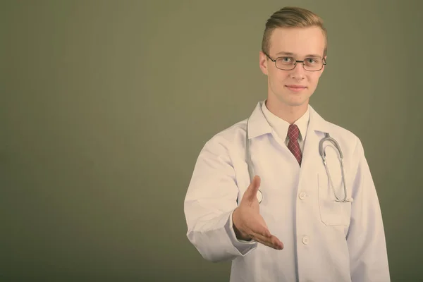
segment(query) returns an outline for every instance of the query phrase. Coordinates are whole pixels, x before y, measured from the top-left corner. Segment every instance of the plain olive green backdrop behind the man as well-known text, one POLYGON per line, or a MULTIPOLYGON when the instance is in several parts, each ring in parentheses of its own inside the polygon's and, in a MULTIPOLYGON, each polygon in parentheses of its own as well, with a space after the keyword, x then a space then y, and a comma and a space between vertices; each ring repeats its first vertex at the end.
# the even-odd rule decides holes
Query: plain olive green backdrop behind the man
POLYGON ((1 1, 0 281, 228 281, 183 200, 204 142, 266 98, 287 5, 325 20, 311 104, 363 142, 392 281, 421 281, 423 4, 382 0, 1 1))

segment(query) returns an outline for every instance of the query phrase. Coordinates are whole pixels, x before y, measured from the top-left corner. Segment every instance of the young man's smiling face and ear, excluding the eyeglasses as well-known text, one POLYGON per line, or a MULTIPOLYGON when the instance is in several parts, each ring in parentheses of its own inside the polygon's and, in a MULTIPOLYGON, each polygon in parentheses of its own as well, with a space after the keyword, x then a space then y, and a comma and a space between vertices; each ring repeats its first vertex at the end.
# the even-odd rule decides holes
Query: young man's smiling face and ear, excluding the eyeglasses
MULTIPOLYGON (((310 55, 323 59, 324 47, 325 38, 319 27, 281 27, 271 34, 268 55, 273 60, 280 56, 291 56, 302 61, 310 55)), ((267 75, 268 103, 288 108, 308 105, 324 68, 305 71, 302 63, 297 63, 293 70, 283 71, 276 68, 275 63, 262 51, 259 60, 262 72, 267 75)))

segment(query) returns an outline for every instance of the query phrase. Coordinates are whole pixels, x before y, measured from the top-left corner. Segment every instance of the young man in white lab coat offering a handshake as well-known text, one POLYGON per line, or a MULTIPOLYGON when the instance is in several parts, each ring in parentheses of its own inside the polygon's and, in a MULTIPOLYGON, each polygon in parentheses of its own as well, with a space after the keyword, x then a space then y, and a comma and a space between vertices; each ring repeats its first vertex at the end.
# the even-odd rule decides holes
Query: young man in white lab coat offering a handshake
POLYGON ((197 159, 185 197, 188 239, 204 259, 232 260, 230 281, 390 281, 362 143, 309 105, 326 47, 317 15, 276 11, 259 52, 267 99, 197 159), (341 151, 319 143, 327 134, 341 151))

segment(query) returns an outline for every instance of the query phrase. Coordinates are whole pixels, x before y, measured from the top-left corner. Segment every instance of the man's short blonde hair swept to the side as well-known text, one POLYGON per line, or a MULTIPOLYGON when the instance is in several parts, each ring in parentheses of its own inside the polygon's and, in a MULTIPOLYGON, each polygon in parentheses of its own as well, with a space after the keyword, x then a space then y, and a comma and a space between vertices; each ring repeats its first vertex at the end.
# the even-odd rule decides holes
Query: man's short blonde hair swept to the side
POLYGON ((320 27, 325 38, 324 53, 328 47, 328 36, 323 20, 312 11, 298 7, 283 7, 276 11, 266 22, 262 40, 262 51, 269 54, 271 33, 278 27, 320 27))

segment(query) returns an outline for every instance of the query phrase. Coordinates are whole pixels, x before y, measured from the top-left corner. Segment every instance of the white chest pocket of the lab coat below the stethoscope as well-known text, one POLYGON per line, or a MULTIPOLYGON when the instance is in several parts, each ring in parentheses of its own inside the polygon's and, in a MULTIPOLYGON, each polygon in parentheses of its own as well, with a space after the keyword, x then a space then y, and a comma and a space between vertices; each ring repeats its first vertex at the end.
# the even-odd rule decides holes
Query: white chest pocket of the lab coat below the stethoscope
MULTIPOLYGON (((342 180, 337 181, 335 176, 332 183, 337 197, 344 198, 342 180)), ((326 226, 349 226, 351 215, 351 202, 337 202, 331 187, 331 182, 326 173, 318 174, 319 209, 321 221, 326 226)), ((348 197, 348 196, 347 196, 348 197)), ((347 198, 348 199, 348 198, 347 198)))

